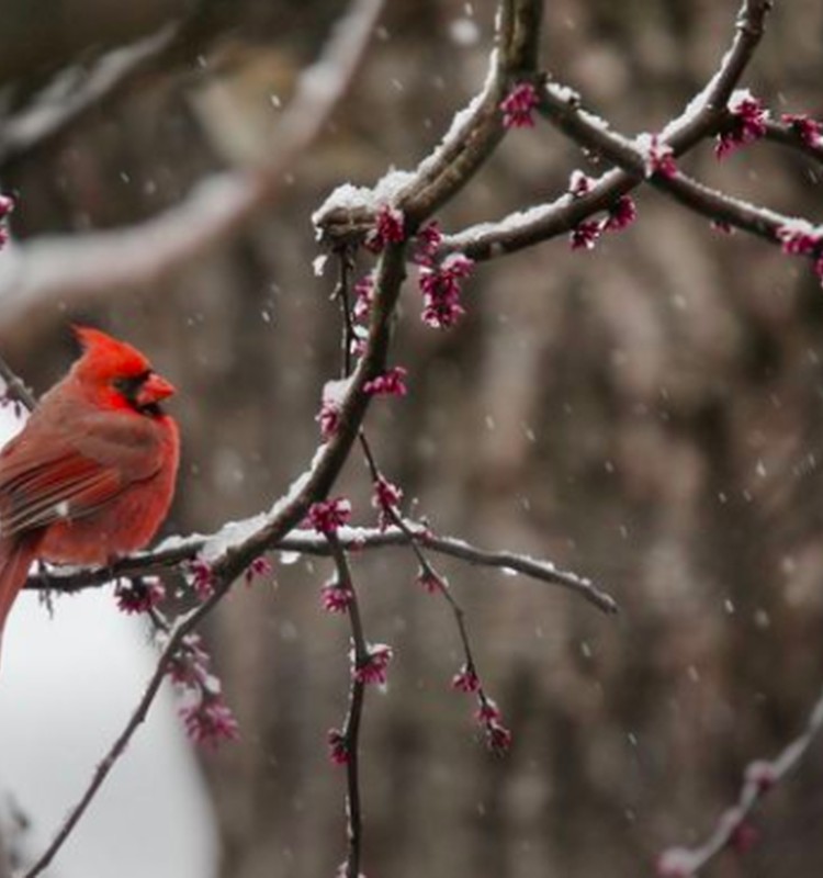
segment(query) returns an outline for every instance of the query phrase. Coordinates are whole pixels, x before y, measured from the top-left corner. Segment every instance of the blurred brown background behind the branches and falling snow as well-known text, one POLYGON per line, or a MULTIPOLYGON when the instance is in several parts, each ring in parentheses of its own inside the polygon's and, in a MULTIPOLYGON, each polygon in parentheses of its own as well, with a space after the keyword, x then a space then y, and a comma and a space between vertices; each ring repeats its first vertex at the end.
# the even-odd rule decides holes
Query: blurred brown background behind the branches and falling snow
MULTIPOLYGON (((328 0, 44 5, 0 4, 7 131, 113 47, 180 16, 187 30, 54 136, 0 144, 19 238, 134 223, 264 156, 339 14, 328 0)), ((48 301, 13 322, 0 302, 0 348, 38 392, 75 353, 74 319, 127 336, 178 385, 184 460, 168 532, 266 508, 309 459, 339 342, 334 281, 312 269, 311 212, 341 182, 414 167, 440 139, 485 76, 492 5, 390 3, 348 100, 278 202, 162 289, 48 301)), ((745 85, 775 113, 820 116, 823 7, 776 5, 745 85)), ((657 131, 717 69, 736 12, 732 0, 557 0, 544 63, 617 128, 657 131)), ((818 171, 794 153, 763 144, 719 164, 707 143, 684 166, 816 215, 818 171)), ((548 126, 512 132, 439 218, 456 229, 551 200, 575 168, 597 171, 548 126)), ((454 331, 427 329, 417 291, 405 293, 395 352, 409 395, 369 419, 388 477, 439 531, 550 558, 597 579, 622 612, 443 565, 514 732, 498 759, 450 690, 456 633, 415 586, 409 553, 356 560, 369 637, 396 649, 387 690, 365 709, 368 875, 652 874, 662 848, 704 837, 745 766, 793 738, 818 696, 820 284, 803 260, 654 192, 638 206, 639 222, 593 252, 556 240, 480 266, 454 331)), ((357 455, 341 489, 370 520, 357 455)), ((343 777, 325 736, 346 709, 348 629, 320 610, 329 573, 278 564, 275 584, 238 587, 210 622, 243 729, 239 743, 196 754, 214 814, 199 832, 219 848, 222 878, 328 876, 342 859, 343 777)), ((820 876, 822 790, 818 745, 764 802, 753 849, 724 854, 711 875, 820 876)), ((120 819, 134 833, 151 807, 124 803, 120 819)), ((165 875, 157 856, 151 874, 165 875)))

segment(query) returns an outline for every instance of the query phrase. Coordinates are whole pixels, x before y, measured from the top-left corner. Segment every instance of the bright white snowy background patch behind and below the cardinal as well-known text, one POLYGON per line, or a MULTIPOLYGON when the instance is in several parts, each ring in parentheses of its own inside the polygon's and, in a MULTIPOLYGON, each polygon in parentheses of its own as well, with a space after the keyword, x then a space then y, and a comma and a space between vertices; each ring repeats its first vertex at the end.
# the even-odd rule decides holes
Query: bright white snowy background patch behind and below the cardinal
MULTIPOLYGON (((0 444, 21 426, 0 409, 0 444)), ((111 589, 58 597, 54 616, 23 593, 0 663, 0 819, 31 821, 36 856, 79 799, 133 711, 155 651, 111 589)), ((217 851, 208 797, 166 688, 63 848, 55 878, 211 878, 217 851)))

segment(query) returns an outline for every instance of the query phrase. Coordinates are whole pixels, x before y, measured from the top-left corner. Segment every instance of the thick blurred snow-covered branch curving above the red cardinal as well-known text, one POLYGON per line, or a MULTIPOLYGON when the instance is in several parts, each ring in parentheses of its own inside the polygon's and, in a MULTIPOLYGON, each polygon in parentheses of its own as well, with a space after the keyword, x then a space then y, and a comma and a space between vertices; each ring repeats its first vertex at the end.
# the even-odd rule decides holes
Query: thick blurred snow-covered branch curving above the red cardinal
POLYGON ((301 76, 264 164, 214 175, 180 204, 128 228, 10 245, 0 261, 0 319, 11 322, 42 300, 82 302, 113 289, 160 285, 171 272, 239 235, 272 203, 285 170, 339 103, 382 5, 382 0, 352 2, 323 57, 301 76))

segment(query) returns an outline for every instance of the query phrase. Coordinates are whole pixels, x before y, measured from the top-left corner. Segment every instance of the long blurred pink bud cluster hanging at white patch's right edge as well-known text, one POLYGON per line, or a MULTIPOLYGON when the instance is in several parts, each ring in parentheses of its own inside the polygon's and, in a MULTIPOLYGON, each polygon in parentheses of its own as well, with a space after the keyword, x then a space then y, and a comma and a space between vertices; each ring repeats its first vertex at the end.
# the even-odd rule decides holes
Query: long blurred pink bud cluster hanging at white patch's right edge
POLYGON ((171 680, 183 690, 185 733, 196 744, 216 746, 239 736, 237 720, 223 699, 219 680, 208 672, 210 656, 196 634, 183 639, 168 667, 171 680))

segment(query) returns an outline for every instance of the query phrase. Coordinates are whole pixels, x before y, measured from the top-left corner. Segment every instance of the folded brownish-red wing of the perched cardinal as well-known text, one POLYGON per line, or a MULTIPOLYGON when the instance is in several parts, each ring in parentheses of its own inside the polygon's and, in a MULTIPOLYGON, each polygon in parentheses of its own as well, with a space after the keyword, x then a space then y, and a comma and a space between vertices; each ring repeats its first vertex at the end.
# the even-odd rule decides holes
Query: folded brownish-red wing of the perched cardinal
POLYGON ((44 460, 21 447, 0 465, 0 536, 82 518, 126 486, 119 470, 74 450, 44 460))

